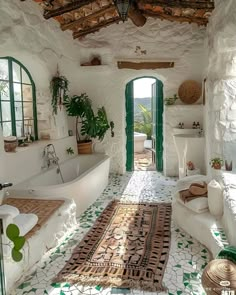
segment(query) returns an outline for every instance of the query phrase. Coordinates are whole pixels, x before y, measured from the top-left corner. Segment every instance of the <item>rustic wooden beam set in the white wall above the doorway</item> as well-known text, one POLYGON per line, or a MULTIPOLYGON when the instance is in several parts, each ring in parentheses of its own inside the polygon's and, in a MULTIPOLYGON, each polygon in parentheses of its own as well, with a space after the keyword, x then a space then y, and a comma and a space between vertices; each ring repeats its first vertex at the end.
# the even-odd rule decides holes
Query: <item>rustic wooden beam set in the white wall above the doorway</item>
POLYGON ((173 68, 175 63, 173 61, 161 62, 130 62, 130 61, 117 61, 118 69, 132 69, 132 70, 154 70, 154 69, 168 69, 173 68))

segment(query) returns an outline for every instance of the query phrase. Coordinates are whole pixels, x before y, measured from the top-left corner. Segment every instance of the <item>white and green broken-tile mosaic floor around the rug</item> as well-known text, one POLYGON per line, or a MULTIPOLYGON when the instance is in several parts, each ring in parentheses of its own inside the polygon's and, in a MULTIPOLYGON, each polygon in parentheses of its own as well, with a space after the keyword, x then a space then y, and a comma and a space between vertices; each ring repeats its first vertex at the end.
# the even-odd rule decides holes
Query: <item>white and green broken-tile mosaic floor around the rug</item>
POLYGON ((164 285, 168 288, 167 293, 51 283, 65 261, 70 258, 73 248, 112 199, 134 202, 171 201, 171 191, 175 182, 175 179, 165 178, 153 171, 136 171, 122 176, 111 175, 101 197, 79 218, 79 227, 47 255, 11 295, 205 295, 201 286, 201 274, 210 259, 210 254, 204 246, 177 228, 173 222, 170 255, 163 279, 164 285))

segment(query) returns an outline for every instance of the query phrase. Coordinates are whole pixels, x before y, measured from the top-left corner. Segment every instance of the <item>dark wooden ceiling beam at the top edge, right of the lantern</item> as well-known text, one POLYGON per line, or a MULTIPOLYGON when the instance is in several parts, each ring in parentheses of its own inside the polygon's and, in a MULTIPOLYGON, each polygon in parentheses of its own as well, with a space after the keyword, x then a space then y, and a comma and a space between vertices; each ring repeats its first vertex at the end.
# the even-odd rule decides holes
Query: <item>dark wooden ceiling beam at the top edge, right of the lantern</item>
POLYGON ((214 1, 186 1, 186 0, 138 0, 140 4, 151 4, 153 6, 174 7, 174 8, 192 8, 208 9, 215 8, 214 1))

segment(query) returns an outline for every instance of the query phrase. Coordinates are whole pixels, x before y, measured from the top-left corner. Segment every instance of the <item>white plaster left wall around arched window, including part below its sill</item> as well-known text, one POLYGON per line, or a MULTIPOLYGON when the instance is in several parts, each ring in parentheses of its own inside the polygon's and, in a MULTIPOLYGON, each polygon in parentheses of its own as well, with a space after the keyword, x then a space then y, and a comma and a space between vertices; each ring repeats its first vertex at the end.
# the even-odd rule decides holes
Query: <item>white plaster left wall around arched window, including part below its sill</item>
MULTIPOLYGON (((0 56, 12 56, 22 62, 35 81, 39 130, 47 130, 54 139, 67 136, 65 113, 62 111, 58 116, 52 116, 49 83, 58 64, 61 74, 70 80, 72 91, 77 87, 78 42, 74 42, 69 33, 63 33, 57 22, 46 22, 33 1, 0 0, 0 19, 0 56)), ((15 154, 5 153, 0 135, 0 183, 18 183, 39 173, 44 144, 47 142, 29 146, 15 154)), ((61 160, 68 157, 66 148, 73 146, 75 149, 76 146, 72 137, 56 140, 54 144, 61 160)))

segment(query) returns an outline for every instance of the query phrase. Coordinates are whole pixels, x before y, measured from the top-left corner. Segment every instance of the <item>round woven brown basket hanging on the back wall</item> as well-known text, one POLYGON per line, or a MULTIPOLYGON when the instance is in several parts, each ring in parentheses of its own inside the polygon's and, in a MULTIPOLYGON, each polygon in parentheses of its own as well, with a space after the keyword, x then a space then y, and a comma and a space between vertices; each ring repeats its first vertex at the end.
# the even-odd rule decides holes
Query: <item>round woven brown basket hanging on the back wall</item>
POLYGON ((192 104, 201 96, 201 85, 194 80, 186 80, 179 86, 178 94, 183 103, 192 104))

